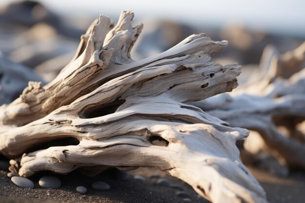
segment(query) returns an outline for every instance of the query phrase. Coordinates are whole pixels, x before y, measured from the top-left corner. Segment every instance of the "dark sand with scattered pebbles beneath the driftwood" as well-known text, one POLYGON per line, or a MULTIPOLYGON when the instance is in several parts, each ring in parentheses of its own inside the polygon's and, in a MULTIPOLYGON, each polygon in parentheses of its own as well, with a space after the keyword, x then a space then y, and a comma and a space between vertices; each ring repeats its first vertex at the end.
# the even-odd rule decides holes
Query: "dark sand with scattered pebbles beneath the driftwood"
MULTIPOLYGON (((305 173, 293 172, 288 178, 279 178, 257 169, 250 170, 265 188, 270 203, 305 203, 305 173)), ((149 168, 129 172, 130 177, 127 180, 116 180, 111 172, 92 178, 78 172, 56 175, 62 182, 59 189, 39 187, 39 178, 50 174, 48 172, 30 178, 35 183, 34 189, 14 185, 6 174, 6 171, 0 171, 0 203, 183 203, 183 198, 175 195, 176 189, 156 185, 156 179, 149 178, 152 174, 159 174, 172 183, 183 186, 185 191, 191 194, 192 203, 209 203, 206 200, 198 200, 196 192, 186 183, 149 168), (146 177, 146 183, 137 182, 133 175, 146 177), (107 182, 111 186, 110 190, 92 189, 91 184, 98 180, 107 182), (86 186, 88 192, 85 195, 76 193, 78 185, 86 186)))

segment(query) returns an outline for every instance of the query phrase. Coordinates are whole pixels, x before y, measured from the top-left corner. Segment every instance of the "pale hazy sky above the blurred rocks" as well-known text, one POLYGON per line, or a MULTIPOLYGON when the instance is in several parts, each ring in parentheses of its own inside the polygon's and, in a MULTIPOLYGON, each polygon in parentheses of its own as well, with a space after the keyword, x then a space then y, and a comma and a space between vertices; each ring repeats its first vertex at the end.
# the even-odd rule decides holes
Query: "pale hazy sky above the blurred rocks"
MULTIPOLYGON (((12 0, 1 0, 0 4, 12 0)), ((166 18, 196 26, 244 24, 305 36, 305 0, 38 0, 63 14, 117 18, 131 9, 135 20, 166 18)))

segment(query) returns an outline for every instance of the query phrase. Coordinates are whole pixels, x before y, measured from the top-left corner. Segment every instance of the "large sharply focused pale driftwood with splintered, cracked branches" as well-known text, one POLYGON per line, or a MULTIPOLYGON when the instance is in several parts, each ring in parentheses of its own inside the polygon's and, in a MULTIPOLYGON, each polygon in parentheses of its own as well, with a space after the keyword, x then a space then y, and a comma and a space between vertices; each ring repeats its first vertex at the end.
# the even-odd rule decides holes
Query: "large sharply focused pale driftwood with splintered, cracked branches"
POLYGON ((0 153, 17 158, 11 170, 28 177, 41 170, 153 167, 213 203, 267 202, 235 145, 248 130, 185 104, 237 86, 238 64, 210 61, 228 43, 192 35, 162 54, 133 61, 129 53, 142 24, 133 28, 132 19, 124 11, 110 29, 110 19, 100 16, 52 82, 30 82, 18 99, 0 107, 0 153), (64 137, 79 143, 41 147, 64 137))

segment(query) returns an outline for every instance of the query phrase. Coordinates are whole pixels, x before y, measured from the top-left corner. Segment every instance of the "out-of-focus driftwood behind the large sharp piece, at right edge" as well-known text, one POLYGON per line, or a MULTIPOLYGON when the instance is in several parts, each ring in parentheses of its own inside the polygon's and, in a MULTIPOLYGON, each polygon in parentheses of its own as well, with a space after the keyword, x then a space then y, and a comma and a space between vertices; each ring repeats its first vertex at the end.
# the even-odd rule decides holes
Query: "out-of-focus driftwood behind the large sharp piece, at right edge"
MULTIPOLYGON (((220 94, 192 105, 227 121, 232 127, 257 131, 264 142, 255 142, 259 137, 253 135, 250 147, 256 148, 255 153, 267 151, 284 167, 305 169, 303 67, 305 43, 283 55, 268 46, 259 72, 248 84, 231 95, 220 94)), ((249 145, 245 148, 251 152, 249 145)))

